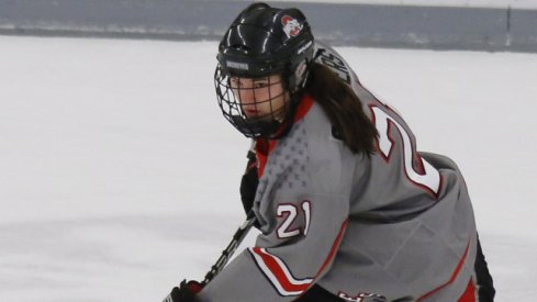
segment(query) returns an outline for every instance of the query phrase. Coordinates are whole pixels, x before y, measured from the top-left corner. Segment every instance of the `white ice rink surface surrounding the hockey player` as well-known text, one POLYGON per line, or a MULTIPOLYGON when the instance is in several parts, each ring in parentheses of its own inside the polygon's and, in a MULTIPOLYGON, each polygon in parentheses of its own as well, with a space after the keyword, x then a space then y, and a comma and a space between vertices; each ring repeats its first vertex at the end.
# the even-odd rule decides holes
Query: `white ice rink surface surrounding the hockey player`
MULTIPOLYGON (((338 48, 466 175, 497 301, 537 295, 537 55, 338 48)), ((0 301, 161 301, 243 220, 216 44, 0 36, 0 301)), ((247 238, 254 242, 254 236, 247 238)))

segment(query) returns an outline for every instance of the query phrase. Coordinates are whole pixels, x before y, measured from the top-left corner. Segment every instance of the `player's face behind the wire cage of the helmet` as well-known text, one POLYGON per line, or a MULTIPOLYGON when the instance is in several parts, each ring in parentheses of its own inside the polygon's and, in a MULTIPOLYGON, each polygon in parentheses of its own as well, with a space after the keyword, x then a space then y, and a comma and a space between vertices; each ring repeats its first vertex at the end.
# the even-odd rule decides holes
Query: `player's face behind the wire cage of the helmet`
POLYGON ((277 121, 284 118, 289 93, 283 89, 280 75, 262 78, 232 77, 230 81, 246 118, 277 121))

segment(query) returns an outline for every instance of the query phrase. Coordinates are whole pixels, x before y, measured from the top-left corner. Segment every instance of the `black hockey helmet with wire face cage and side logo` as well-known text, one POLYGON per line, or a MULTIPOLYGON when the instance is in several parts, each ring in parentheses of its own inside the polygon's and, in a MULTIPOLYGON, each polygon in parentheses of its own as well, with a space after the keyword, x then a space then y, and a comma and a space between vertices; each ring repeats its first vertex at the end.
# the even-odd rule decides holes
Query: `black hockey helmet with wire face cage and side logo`
POLYGON ((281 121, 248 119, 233 93, 230 78, 280 75, 290 102, 298 102, 312 59, 313 35, 300 10, 250 4, 235 19, 219 45, 214 78, 224 118, 247 137, 271 134, 281 121))

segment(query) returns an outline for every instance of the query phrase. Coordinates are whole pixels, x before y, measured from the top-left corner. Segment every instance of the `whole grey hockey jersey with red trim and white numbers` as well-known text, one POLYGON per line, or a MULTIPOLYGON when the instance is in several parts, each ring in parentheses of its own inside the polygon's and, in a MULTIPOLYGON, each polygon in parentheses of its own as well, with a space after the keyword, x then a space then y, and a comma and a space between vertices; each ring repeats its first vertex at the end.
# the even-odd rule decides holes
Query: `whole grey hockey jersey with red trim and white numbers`
POLYGON ((353 154, 304 97, 289 134, 259 141, 254 211, 261 234, 201 301, 292 301, 317 283, 346 301, 457 301, 477 235, 467 187, 447 157, 418 153, 404 120, 321 43, 317 60, 353 87, 378 150, 353 154), (370 300, 367 300, 370 299, 370 300))

